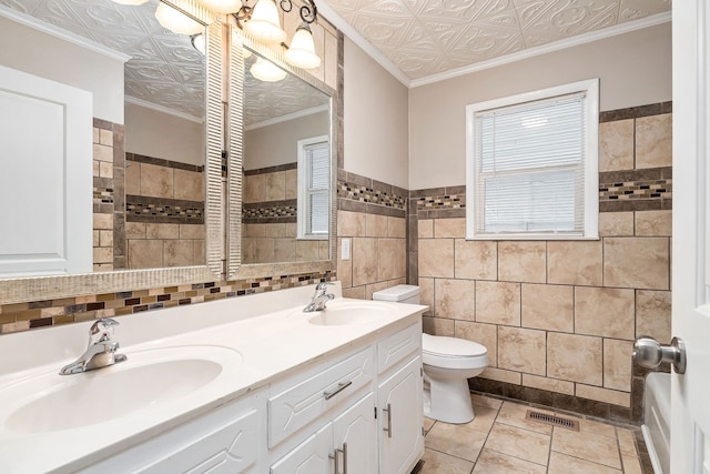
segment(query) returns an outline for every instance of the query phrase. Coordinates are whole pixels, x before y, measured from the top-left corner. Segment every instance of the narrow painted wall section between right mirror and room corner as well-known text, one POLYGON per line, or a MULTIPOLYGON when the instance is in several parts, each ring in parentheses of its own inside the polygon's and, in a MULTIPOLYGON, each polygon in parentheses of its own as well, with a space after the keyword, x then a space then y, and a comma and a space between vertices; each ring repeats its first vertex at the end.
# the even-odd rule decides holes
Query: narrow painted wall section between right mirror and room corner
POLYGON ((407 88, 348 39, 344 75, 344 169, 409 188, 407 88))

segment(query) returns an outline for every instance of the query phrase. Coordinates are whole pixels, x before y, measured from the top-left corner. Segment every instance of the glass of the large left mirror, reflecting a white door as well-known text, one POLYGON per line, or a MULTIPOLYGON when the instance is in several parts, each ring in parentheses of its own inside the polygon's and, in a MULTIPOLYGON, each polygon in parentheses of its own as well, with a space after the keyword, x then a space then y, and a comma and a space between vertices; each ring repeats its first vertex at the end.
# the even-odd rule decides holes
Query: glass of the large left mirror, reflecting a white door
MULTIPOLYGON (((199 50, 204 26, 159 0, 140 6, 0 0, 0 37, 13 44, 0 52, 0 65, 47 80, 43 84, 84 91, 91 99, 88 119, 79 121, 84 128, 75 137, 42 129, 52 140, 43 140, 39 153, 37 140, 10 143, 12 133, 4 129, 0 147, 14 148, 12 153, 0 150, 2 184, 11 190, 0 192, 0 208, 6 209, 0 220, 28 229, 30 236, 44 236, 0 238, 0 278, 204 265, 204 46, 199 50), (159 10, 176 14, 183 26, 166 23, 159 10), (75 170, 50 161, 63 157, 65 140, 78 140, 88 150, 75 170), (57 173, 83 181, 62 189, 57 173), (77 204, 73 210, 58 208, 69 188, 81 190, 71 201, 77 204), (83 215, 64 219, 75 209, 83 215), (74 254, 78 266, 52 266, 74 254), (12 264, 3 266, 2 260, 12 264), (43 261, 49 266, 42 268, 43 261)), ((6 85, 0 89, 7 91, 6 85)), ((7 99, 2 123, 32 111, 20 107, 14 98, 7 99)), ((50 119, 41 123, 62 125, 50 119)), ((29 127, 38 123, 12 130, 27 138, 29 127)))

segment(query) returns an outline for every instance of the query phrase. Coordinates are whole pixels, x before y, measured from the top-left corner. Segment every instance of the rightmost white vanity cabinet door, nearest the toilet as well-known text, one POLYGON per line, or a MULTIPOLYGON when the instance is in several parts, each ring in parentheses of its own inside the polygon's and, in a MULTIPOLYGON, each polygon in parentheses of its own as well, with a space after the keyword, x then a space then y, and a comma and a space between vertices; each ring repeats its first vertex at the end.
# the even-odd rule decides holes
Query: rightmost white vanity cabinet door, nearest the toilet
POLYGON ((424 454, 422 356, 379 384, 377 412, 379 474, 408 474, 424 454))

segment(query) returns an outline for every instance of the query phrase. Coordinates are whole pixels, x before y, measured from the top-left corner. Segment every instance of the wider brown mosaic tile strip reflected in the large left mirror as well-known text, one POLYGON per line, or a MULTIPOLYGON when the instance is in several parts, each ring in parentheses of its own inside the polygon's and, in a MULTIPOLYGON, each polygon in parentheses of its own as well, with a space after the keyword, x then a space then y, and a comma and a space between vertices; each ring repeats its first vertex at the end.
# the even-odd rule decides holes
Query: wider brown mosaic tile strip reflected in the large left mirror
POLYGON ((204 202, 180 199, 125 196, 126 222, 203 224, 204 202))

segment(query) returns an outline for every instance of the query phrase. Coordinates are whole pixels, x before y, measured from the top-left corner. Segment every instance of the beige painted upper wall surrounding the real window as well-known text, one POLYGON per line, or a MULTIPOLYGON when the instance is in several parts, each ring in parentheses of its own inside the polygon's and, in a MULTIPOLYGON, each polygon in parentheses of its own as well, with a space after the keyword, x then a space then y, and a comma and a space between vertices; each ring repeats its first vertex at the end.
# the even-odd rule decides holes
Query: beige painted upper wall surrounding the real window
POLYGON ((597 77, 601 111, 671 100, 670 23, 412 89, 409 189, 465 184, 467 104, 597 77))

